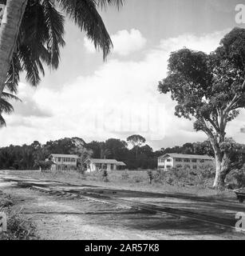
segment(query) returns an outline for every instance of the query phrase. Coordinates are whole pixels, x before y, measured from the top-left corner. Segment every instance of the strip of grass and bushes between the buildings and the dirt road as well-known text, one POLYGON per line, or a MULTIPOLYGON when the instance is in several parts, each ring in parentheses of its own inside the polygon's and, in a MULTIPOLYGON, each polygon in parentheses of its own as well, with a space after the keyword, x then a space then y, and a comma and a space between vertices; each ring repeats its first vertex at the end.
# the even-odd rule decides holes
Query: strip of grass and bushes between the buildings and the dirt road
POLYGON ((109 171, 107 180, 103 179, 101 172, 81 174, 71 171, 39 172, 31 170, 11 171, 29 178, 56 180, 70 182, 75 185, 106 186, 115 189, 139 190, 172 194, 192 194, 204 198, 234 199, 232 190, 212 189, 213 174, 210 171, 202 171, 199 174, 190 174, 187 171, 175 172, 175 174, 159 173, 156 170, 117 170, 109 171), (149 182, 148 173, 152 174, 152 184, 149 182))

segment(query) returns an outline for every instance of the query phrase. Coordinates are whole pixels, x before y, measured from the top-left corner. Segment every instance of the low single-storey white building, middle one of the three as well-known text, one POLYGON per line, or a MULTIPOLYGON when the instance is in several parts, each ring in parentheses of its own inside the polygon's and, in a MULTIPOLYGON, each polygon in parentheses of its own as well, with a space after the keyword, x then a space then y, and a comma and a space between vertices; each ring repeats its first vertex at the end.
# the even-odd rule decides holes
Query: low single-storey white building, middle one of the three
POLYGON ((86 161, 87 171, 96 170, 119 170, 126 167, 124 162, 118 162, 115 159, 89 159, 86 161))

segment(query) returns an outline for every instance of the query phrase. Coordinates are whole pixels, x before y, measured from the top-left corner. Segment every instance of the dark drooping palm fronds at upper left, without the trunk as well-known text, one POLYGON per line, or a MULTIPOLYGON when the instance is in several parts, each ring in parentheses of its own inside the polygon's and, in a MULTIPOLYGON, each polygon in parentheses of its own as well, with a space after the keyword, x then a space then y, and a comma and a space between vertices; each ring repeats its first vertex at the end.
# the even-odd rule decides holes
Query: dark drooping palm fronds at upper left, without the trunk
MULTIPOLYGON (((123 0, 29 0, 16 34, 13 57, 8 63, 10 67, 6 74, 5 90, 17 94, 23 71, 26 72, 26 81, 38 86, 41 75, 45 75, 45 66, 51 70, 58 68, 60 50, 65 46, 65 17, 85 33, 97 50, 102 50, 105 60, 113 42, 98 9, 109 5, 119 8, 123 0)), ((5 101, 6 92, 0 98, 5 101)), ((0 102, 0 125, 6 124, 2 114, 12 111, 13 107, 8 102, 0 102)))

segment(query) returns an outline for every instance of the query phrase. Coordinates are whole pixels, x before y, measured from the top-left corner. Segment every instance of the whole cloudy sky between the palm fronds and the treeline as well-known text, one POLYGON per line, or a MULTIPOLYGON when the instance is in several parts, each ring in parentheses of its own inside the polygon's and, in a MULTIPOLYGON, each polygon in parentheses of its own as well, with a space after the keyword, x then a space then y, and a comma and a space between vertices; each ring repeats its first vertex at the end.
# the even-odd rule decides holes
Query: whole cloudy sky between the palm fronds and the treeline
MULTIPOLYGON (((38 88, 24 77, 22 103, 6 116, 0 146, 81 137, 86 142, 142 134, 154 149, 203 141, 192 122, 174 116, 174 102, 159 94, 169 53, 184 46, 209 53, 234 26, 236 0, 125 0, 101 13, 113 39, 107 62, 77 27, 65 26, 66 46, 57 71, 38 88)), ((227 134, 245 142, 242 112, 227 134)))

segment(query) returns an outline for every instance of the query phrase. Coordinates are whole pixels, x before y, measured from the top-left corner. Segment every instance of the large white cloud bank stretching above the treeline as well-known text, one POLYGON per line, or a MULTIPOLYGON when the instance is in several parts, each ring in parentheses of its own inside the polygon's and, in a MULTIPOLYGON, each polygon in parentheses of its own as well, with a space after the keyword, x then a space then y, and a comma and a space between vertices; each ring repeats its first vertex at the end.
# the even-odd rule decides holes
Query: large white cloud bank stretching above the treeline
MULTIPOLYGON (((166 75, 170 52, 183 46, 210 52, 226 32, 164 39, 145 52, 140 62, 113 59, 93 75, 61 85, 60 90, 39 87, 28 95, 41 110, 49 110, 52 117, 26 117, 22 126, 17 126, 21 120, 14 114, 6 117, 9 126, 0 130, 2 145, 35 139, 45 142, 65 136, 79 136, 86 141, 126 138, 134 132, 151 140, 167 136, 173 144, 179 144, 176 138, 180 137, 204 138, 203 134, 192 133, 192 122, 173 115, 175 104, 168 96, 159 94, 157 83, 166 75)), ((21 95, 26 94, 25 87, 20 90, 21 95)), ((239 120, 242 126, 242 118, 239 120)), ((231 126, 231 133, 236 128, 231 126)))

